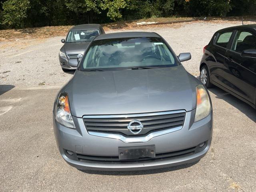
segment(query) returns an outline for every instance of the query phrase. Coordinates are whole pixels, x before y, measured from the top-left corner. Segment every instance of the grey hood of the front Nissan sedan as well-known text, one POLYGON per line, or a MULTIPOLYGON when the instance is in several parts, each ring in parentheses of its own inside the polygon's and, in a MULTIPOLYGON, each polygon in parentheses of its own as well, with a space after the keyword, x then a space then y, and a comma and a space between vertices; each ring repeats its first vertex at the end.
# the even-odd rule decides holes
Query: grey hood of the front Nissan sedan
POLYGON ((64 86, 73 116, 196 108, 198 80, 183 66, 139 70, 76 70, 64 86))

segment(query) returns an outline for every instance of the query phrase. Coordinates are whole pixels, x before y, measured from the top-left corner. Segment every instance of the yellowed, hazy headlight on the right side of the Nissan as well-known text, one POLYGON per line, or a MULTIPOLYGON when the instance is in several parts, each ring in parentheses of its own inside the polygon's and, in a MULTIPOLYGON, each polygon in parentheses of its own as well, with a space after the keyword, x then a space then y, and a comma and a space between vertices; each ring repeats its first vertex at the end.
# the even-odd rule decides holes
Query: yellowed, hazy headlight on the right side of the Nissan
POLYGON ((204 86, 196 86, 196 115, 195 122, 206 118, 212 110, 209 96, 204 86))

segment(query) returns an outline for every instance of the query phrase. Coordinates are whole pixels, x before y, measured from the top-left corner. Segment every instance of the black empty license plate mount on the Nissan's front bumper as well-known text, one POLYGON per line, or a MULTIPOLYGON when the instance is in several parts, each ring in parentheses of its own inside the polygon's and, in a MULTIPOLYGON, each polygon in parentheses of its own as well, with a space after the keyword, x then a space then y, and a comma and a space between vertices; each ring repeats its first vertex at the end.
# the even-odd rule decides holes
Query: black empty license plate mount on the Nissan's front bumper
POLYGON ((139 158, 155 158, 155 145, 133 146, 133 147, 118 147, 119 159, 130 160, 139 158))

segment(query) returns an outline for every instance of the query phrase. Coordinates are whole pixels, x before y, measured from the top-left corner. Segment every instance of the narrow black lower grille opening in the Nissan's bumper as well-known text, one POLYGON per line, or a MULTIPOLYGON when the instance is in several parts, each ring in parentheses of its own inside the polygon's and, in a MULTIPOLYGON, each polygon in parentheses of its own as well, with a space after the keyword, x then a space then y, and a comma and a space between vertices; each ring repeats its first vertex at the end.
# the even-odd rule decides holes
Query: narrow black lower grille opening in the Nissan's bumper
POLYGON ((129 160, 119 160, 118 156, 92 156, 92 155, 84 155, 84 154, 76 154, 78 160, 83 161, 102 161, 102 162, 131 162, 131 161, 146 161, 146 160, 156 160, 156 159, 164 159, 164 158, 175 158, 182 155, 192 155, 196 151, 196 147, 166 152, 166 153, 158 153, 155 158, 139 158, 139 159, 129 159, 129 160))

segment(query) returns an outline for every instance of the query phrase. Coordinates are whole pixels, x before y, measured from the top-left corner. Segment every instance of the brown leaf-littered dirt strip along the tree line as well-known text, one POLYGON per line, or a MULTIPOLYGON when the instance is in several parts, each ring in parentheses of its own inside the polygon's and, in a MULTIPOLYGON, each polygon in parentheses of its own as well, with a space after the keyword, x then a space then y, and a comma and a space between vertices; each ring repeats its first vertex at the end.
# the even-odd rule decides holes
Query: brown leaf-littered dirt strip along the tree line
MULTIPOLYGON (((115 29, 145 29, 145 28, 154 28, 154 27, 171 27, 171 28, 180 28, 186 23, 174 23, 174 24, 161 24, 161 25, 149 25, 149 26, 138 26, 138 22, 172 22, 177 20, 191 20, 192 23, 198 22, 213 22, 213 23, 237 23, 241 22, 241 17, 207 17, 204 18, 191 18, 191 17, 171 17, 171 18, 148 18, 140 20, 130 20, 130 21, 118 21, 108 24, 102 24, 104 30, 115 30, 115 29)), ((251 24, 256 22, 256 16, 245 16, 244 24, 251 24)), ((190 22, 191 23, 191 22, 190 22)), ((66 36, 68 30, 72 26, 48 26, 48 27, 39 27, 39 28, 25 28, 25 29, 11 29, 11 30, 0 30, 0 41, 16 41, 18 39, 45 39, 53 36, 66 36)), ((0 48, 3 48, 3 45, 0 45, 0 48)))

